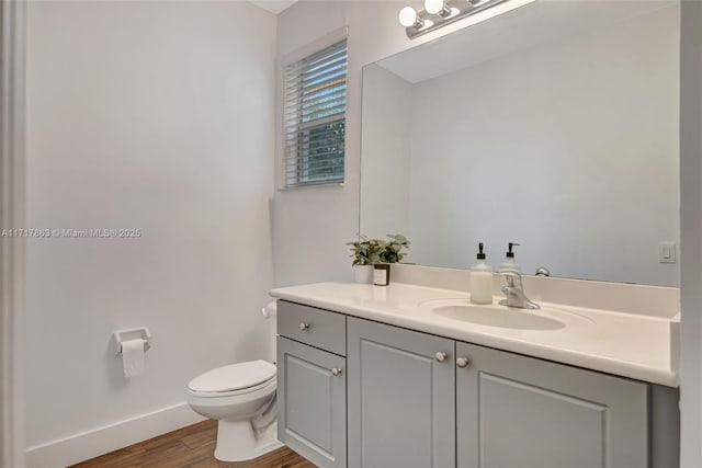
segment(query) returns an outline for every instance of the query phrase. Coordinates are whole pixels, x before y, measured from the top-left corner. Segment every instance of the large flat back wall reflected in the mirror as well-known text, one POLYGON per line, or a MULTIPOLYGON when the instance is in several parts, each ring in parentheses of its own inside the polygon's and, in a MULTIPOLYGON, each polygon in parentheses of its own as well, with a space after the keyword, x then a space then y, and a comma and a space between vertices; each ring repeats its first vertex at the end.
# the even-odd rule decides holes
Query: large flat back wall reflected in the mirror
MULTIPOLYGON (((679 241, 679 15, 665 8, 415 84, 412 261, 466 269, 483 241, 497 266, 514 241, 525 272, 678 286, 657 246, 679 241)), ((364 190, 385 185, 363 174, 364 190)))

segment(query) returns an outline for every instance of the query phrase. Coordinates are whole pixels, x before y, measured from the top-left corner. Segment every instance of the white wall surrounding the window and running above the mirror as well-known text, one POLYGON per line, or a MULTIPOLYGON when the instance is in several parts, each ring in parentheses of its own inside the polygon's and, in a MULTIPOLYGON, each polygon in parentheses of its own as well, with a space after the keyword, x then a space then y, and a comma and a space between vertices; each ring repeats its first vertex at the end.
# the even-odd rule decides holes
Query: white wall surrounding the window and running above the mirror
MULTIPOLYGON (((351 260, 344 243, 356 239, 359 233, 362 67, 529 1, 511 0, 414 41, 405 35, 404 27, 397 22, 397 13, 406 3, 421 9, 422 2, 418 0, 406 3, 393 0, 302 0, 279 15, 279 57, 348 25, 349 69, 346 183, 341 187, 276 193, 273 215, 275 285, 352 278, 351 260)), ((279 100, 279 115, 282 115, 280 109, 279 100)), ((276 135, 281 135, 280 122, 278 125, 276 135)), ((282 155, 280 141, 276 138, 279 164, 282 155)))

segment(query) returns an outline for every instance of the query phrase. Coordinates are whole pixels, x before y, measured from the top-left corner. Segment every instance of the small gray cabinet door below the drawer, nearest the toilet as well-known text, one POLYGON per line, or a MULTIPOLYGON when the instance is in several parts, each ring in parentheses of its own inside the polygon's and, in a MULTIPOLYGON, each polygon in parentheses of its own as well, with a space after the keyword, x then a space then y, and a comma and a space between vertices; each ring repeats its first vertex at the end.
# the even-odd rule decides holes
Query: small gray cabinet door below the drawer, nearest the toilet
POLYGON ((346 467, 346 397, 343 357, 278 338, 278 438, 283 444, 319 467, 346 467))

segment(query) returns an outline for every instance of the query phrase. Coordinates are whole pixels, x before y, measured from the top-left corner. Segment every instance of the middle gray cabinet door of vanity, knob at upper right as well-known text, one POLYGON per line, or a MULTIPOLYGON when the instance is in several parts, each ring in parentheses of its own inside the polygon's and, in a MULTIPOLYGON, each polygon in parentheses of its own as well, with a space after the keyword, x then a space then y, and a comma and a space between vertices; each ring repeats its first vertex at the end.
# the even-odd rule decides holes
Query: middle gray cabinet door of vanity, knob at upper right
POLYGON ((454 342, 351 317, 347 326, 349 466, 455 467, 454 342))

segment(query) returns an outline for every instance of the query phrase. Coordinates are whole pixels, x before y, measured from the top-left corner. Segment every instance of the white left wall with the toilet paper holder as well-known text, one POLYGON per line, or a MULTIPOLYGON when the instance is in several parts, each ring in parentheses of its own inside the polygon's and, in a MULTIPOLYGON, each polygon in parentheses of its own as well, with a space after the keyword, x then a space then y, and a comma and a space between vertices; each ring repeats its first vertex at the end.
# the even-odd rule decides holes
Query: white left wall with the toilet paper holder
POLYGON ((29 242, 26 438, 48 444, 30 464, 95 455, 52 443, 267 352, 274 50, 247 2, 29 2, 27 226, 143 232, 29 242), (138 326, 154 347, 127 380, 110 336, 138 326))

